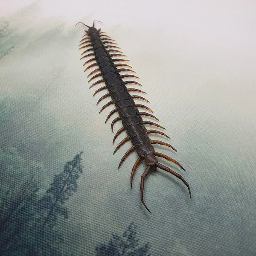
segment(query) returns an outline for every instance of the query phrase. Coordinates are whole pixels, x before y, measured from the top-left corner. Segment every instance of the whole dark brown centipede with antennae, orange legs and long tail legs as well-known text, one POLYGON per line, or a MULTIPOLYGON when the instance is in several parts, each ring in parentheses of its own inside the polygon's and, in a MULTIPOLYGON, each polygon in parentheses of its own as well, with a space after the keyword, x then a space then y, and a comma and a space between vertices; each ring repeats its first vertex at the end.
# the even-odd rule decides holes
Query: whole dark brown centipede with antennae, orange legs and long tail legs
MULTIPOLYGON (((128 141, 131 141, 132 147, 130 147, 122 157, 118 168, 122 165, 123 161, 128 157, 131 152, 136 151, 138 158, 134 163, 134 166, 131 169, 131 188, 134 173, 137 169, 137 166, 144 160, 146 165, 145 171, 141 175, 140 179, 140 200, 148 210, 151 212, 148 207, 146 206, 144 199, 143 199, 143 192, 144 192, 144 180, 145 177, 152 171, 155 172, 157 167, 166 171, 178 179, 180 179, 188 188, 189 190, 189 197, 191 199, 191 191, 189 184, 186 180, 177 172, 173 171, 169 167, 159 163, 158 160, 160 158, 164 158, 166 160, 175 163, 181 169, 185 171, 183 166, 176 160, 172 159, 171 157, 156 152, 154 150, 154 144, 160 144, 163 146, 167 146, 172 148, 172 150, 177 150, 170 145, 169 143, 160 141, 160 140, 151 140, 149 135, 150 134, 160 134, 164 137, 170 139, 168 135, 163 133, 162 131, 155 130, 155 129, 147 129, 145 125, 151 125, 153 127, 157 127, 157 129, 165 129, 163 126, 149 121, 144 120, 143 118, 146 116, 147 118, 150 117, 159 121, 157 117, 155 117, 152 113, 153 111, 148 108, 146 105, 135 103, 135 101, 142 100, 143 102, 149 102, 144 97, 137 95, 140 93, 144 93, 144 91, 136 89, 133 87, 128 87, 126 85, 133 84, 139 85, 140 83, 134 81, 134 78, 138 78, 132 73, 135 73, 132 70, 132 67, 126 64, 128 61, 124 57, 126 55, 121 52, 120 48, 117 46, 115 40, 113 40, 110 36, 106 35, 105 32, 101 32, 101 29, 96 29, 94 27, 95 22, 101 22, 99 20, 93 21, 93 26, 87 26, 83 22, 79 22, 82 25, 86 26, 87 29, 84 29, 85 34, 83 35, 81 41, 79 41, 79 50, 82 50, 81 53, 81 60, 86 60, 83 64, 83 67, 86 66, 84 72, 89 72, 88 74, 88 82, 90 83, 94 79, 99 79, 93 84, 90 85, 90 88, 94 86, 99 86, 99 88, 94 92, 93 96, 97 93, 105 91, 102 97, 99 98, 97 105, 106 98, 110 98, 111 100, 107 102, 105 105, 102 106, 99 113, 101 113, 105 108, 108 106, 113 106, 113 109, 107 116, 105 123, 114 113, 118 113, 118 116, 113 119, 111 122, 111 130, 113 132, 113 125, 116 122, 122 122, 122 128, 120 128, 113 137, 113 143, 115 142, 116 138, 122 133, 122 131, 126 131, 127 136, 121 140, 121 142, 116 146, 114 150, 114 154, 116 151, 128 141), (123 74, 125 72, 125 74, 123 74), (132 79, 132 80, 125 80, 124 78, 132 79), (105 84, 100 87, 99 84, 105 84), (137 94, 130 94, 130 93, 137 93, 137 94), (134 101, 135 100, 135 101, 134 101), (145 112, 147 111, 147 112, 145 112), (151 112, 151 113, 149 113, 151 112)), ((77 24, 79 24, 77 23, 77 24)), ((76 24, 76 25, 77 25, 76 24)), ((135 86, 136 87, 136 86, 135 86)))

